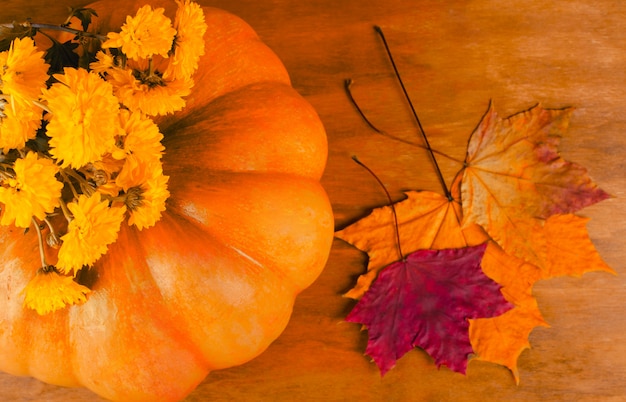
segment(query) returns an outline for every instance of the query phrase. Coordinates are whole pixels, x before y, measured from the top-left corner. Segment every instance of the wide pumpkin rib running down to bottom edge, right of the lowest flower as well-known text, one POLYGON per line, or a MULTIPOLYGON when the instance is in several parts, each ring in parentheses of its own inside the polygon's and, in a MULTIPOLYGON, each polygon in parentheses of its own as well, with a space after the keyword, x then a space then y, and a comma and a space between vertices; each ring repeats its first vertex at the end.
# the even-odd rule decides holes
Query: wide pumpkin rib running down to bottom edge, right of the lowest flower
POLYGON ((99 279, 89 303, 65 313, 79 381, 111 399, 142 400, 144 391, 133 388, 134 382, 151 383, 149 393, 161 398, 181 387, 173 381, 180 373, 159 363, 164 356, 175 360, 175 367, 185 367, 186 376, 195 378, 196 385, 209 371, 198 346, 172 325, 169 309, 154 294, 158 286, 150 275, 145 251, 138 247, 140 235, 132 227, 121 229, 120 240, 97 263, 99 279), (141 346, 146 343, 152 345, 149 351, 141 346))

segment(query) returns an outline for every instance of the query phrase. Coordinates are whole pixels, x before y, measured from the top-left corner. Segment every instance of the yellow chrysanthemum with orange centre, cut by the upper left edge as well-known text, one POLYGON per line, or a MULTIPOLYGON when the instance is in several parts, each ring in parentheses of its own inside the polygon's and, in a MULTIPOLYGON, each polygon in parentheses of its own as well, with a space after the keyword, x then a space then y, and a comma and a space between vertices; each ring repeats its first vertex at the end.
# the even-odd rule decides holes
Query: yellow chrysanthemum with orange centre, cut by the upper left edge
POLYGON ((17 38, 9 50, 0 53, 0 91, 12 103, 39 99, 48 80, 43 54, 31 38, 17 38))

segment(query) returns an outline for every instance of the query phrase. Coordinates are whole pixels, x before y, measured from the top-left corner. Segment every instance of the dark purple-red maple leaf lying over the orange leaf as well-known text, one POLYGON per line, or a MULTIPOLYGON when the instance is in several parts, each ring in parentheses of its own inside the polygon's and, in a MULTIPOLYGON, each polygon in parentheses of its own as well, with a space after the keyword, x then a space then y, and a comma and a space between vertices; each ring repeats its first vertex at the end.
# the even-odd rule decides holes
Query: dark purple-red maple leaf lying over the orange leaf
POLYGON ((381 375, 413 347, 428 352, 437 366, 465 373, 473 351, 468 319, 512 307, 482 272, 486 247, 419 250, 380 272, 346 320, 367 327, 365 352, 381 375))

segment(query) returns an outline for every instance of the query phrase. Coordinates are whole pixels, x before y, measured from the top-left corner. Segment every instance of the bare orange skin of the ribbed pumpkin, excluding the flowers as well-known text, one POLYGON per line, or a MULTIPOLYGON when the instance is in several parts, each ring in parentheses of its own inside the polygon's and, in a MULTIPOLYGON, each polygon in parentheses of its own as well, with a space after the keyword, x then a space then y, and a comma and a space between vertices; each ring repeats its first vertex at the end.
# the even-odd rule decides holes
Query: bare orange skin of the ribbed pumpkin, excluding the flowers
MULTIPOLYGON (((90 7, 106 32, 145 3, 90 7)), ((149 3, 173 18, 173 1, 149 3)), ((204 12, 187 107, 158 121, 167 210, 152 228, 122 225, 87 302, 45 316, 24 308, 37 237, 0 227, 0 370, 112 400, 180 400, 211 370, 262 353, 323 269, 333 215, 319 117, 245 22, 204 12)))

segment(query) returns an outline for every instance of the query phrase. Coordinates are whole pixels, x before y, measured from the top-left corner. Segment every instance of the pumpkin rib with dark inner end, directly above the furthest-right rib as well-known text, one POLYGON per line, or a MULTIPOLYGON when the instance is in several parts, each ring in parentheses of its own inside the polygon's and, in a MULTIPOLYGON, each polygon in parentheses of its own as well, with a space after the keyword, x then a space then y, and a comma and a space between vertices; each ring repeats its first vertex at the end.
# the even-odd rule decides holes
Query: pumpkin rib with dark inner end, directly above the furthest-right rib
POLYGON ((288 172, 317 180, 323 175, 328 152, 324 127, 310 104, 285 84, 250 84, 183 121, 163 132, 165 170, 169 164, 288 172))

